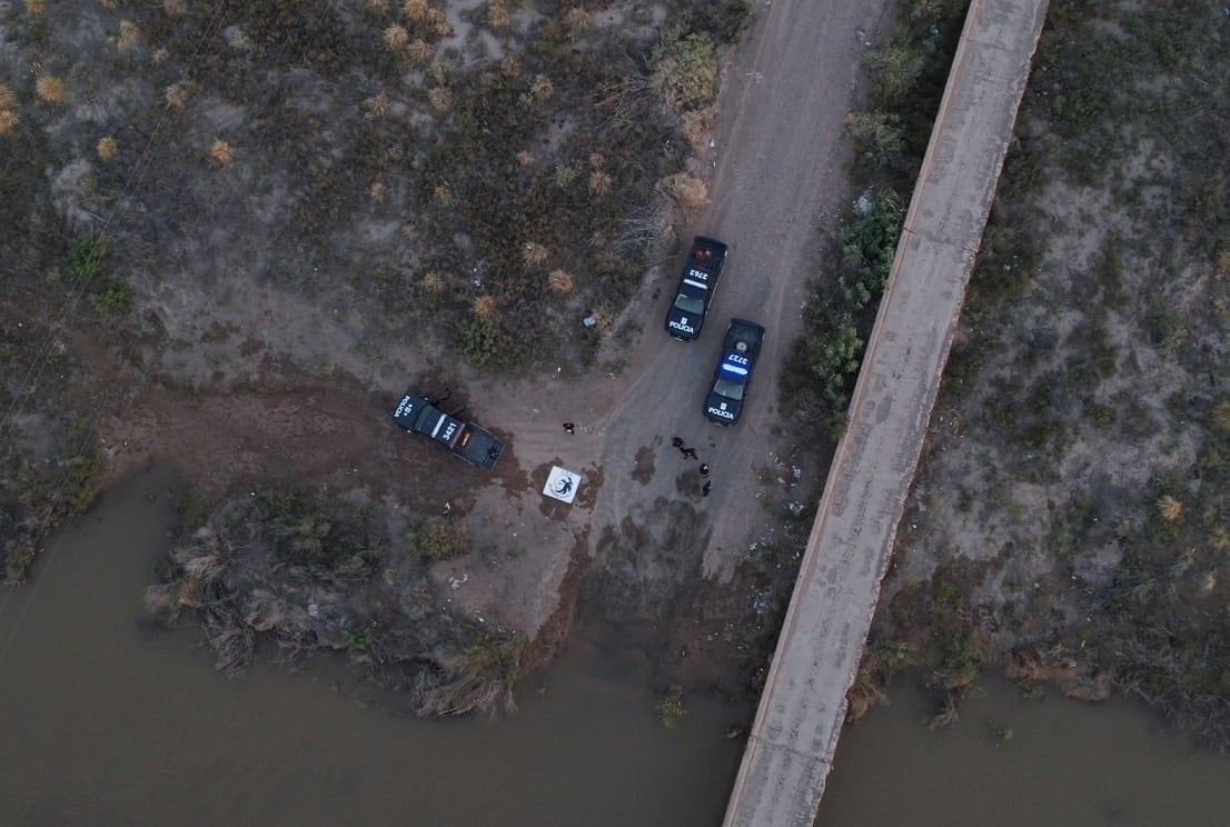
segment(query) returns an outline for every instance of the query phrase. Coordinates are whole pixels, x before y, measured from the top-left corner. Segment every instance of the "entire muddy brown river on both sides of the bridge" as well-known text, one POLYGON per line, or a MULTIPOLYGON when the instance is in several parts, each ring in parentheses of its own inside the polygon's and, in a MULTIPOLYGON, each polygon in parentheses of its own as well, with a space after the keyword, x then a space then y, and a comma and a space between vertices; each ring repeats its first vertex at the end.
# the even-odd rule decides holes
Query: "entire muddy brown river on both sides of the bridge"
MULTIPOLYGON (((141 607, 171 485, 154 472, 106 496, 0 590, 0 825, 720 823, 740 750, 726 731, 750 710, 689 698, 667 730, 633 655, 574 645, 496 721, 365 707, 338 659, 220 676, 191 624, 141 607)), ((817 823, 1230 825, 1230 759, 1137 704, 986 680, 956 726, 927 732, 931 710, 899 684, 847 727, 817 823)))

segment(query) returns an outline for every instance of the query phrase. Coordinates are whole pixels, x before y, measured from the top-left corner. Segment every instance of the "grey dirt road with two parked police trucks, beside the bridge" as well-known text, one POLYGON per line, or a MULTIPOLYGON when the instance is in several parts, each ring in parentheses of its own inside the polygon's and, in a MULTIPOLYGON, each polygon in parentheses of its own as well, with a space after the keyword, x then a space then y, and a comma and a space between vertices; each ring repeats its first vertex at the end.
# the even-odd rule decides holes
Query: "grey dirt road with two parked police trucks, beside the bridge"
MULTIPOLYGON (((704 160, 712 172, 711 208, 681 233, 684 245, 692 233, 705 233, 731 246, 697 342, 678 343, 662 329, 676 254, 657 268, 651 289, 627 312, 643 324, 629 370, 545 388, 508 387, 487 397, 492 421, 523 423, 515 431, 523 467, 542 474, 558 461, 589 477, 600 474, 592 516, 574 536, 599 569, 624 584, 615 592, 635 603, 624 612, 668 621, 675 586, 701 573, 728 580, 765 530, 760 477, 792 447, 788 435, 774 434, 780 366, 800 331, 807 281, 818 265, 818 227, 835 221, 841 209, 843 123, 860 58, 887 25, 889 5, 785 0, 758 10, 749 39, 727 69, 720 129, 712 156, 704 160), (702 401, 732 316, 763 323, 769 335, 742 421, 717 428, 704 418, 702 401), (563 434, 565 420, 581 425, 574 436, 563 434), (673 436, 695 446, 699 460, 684 460, 670 445, 673 436), (707 498, 696 471, 701 461, 712 466, 707 498)), ((800 464, 818 483, 817 458, 800 464)), ((540 499, 531 489, 514 510, 531 515, 540 499)), ((517 525, 533 528, 515 517, 504 528, 517 525)), ((522 569, 515 578, 477 573, 462 600, 475 608, 499 595, 517 603, 530 579, 539 587, 557 586, 573 549, 545 546, 530 553, 535 562, 515 563, 522 569)), ((534 629, 540 618, 508 618, 518 619, 534 629)))

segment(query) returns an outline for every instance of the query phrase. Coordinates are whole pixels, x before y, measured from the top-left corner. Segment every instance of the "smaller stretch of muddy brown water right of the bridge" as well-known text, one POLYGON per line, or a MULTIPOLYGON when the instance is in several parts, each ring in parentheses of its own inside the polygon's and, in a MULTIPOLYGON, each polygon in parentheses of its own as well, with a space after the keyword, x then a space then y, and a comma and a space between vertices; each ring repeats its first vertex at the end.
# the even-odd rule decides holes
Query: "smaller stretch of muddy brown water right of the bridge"
POLYGON ((1027 699, 984 680, 956 725, 930 732, 934 699, 903 687, 891 700, 843 732, 817 825, 1230 825, 1230 758, 1143 705, 1027 699))

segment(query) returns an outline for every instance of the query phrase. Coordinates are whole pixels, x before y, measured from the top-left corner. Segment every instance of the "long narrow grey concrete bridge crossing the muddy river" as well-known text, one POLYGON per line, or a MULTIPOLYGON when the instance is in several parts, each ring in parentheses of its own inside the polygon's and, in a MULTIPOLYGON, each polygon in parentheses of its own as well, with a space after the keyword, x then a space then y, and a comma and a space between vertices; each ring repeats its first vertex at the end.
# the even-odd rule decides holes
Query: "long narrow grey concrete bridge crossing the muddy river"
POLYGON ((970 6, 727 827, 815 821, 1046 11, 970 6))

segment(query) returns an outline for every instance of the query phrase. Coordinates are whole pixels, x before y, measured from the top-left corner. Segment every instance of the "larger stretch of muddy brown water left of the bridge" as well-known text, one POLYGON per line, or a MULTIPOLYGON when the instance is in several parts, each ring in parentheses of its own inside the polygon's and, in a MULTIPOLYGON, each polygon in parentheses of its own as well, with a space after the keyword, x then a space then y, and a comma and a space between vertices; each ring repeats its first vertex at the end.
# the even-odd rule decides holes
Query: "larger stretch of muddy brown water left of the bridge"
POLYGON ((632 656, 574 648, 496 721, 396 718, 327 667, 220 676, 144 617, 171 485, 117 489, 0 591, 0 823, 720 822, 749 710, 690 697, 667 730, 632 656))

